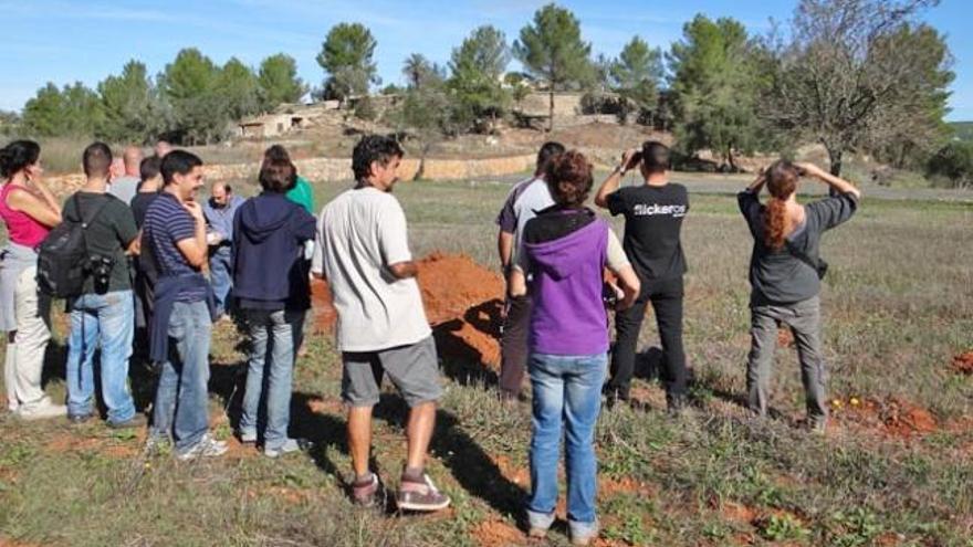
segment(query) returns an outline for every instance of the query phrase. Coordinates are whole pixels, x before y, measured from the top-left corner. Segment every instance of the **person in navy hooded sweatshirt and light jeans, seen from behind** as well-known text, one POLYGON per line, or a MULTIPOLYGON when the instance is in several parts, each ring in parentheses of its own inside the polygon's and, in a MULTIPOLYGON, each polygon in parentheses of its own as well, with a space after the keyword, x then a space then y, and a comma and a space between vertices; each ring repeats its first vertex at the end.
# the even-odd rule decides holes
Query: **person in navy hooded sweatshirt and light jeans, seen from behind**
POLYGON ((287 424, 294 351, 301 346, 304 314, 311 307, 304 243, 314 239, 315 219, 284 196, 294 177, 289 159, 264 159, 260 168, 263 191, 240 206, 233 219, 233 295, 252 343, 239 433, 242 442, 257 442, 258 413, 264 400, 263 452, 271 457, 300 448, 287 436, 287 424))

